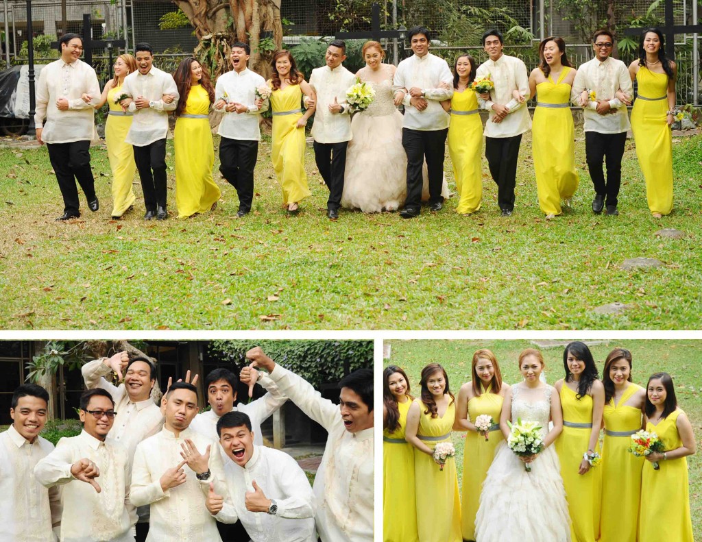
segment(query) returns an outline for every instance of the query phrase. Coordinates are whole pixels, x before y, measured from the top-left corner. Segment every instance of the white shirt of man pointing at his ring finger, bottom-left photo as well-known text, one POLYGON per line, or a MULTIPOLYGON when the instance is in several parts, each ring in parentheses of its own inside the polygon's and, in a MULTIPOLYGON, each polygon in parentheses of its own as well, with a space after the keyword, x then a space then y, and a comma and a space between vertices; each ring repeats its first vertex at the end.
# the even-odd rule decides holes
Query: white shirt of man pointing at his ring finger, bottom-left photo
POLYGON ((166 429, 140 442, 134 454, 131 501, 136 506, 151 505, 151 520, 147 542, 200 541, 221 542, 217 522, 205 506, 209 484, 213 482, 218 495, 226 498, 222 458, 216 452, 217 442, 187 428, 176 436, 166 429), (186 480, 164 491, 161 476, 183 461, 181 444, 191 439, 201 454, 210 446, 208 480, 197 480, 187 465, 183 466, 186 480))

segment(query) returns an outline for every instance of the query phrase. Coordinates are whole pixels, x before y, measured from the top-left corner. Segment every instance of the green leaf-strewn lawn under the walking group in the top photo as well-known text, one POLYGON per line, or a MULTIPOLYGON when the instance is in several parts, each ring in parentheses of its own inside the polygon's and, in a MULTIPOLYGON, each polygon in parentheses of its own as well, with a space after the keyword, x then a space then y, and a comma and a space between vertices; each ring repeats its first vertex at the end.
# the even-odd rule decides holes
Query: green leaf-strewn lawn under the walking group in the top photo
MULTIPOLYGON (((310 149, 312 197, 289 217, 263 142, 254 212, 243 220, 217 173, 223 201, 212 213, 146 223, 135 179, 135 209, 112 221, 107 154, 95 148, 100 211, 82 202, 84 220, 62 224, 54 222, 62 201, 46 148, 2 149, 0 329, 698 329, 702 138, 674 145, 675 211, 655 220, 633 142, 621 216, 592 214, 584 140, 576 137, 574 210, 548 222, 536 201, 530 135, 515 214, 506 219, 483 160, 484 202, 473 216, 458 216, 454 197, 441 213, 425 209, 415 220, 343 211, 331 223, 310 149), (661 227, 687 237, 658 239, 661 227), (635 256, 665 265, 622 270, 635 256), (614 301, 632 308, 594 312, 614 301)), ((445 171, 455 190, 448 158, 445 171)), ((175 211, 172 170, 168 176, 175 211)))

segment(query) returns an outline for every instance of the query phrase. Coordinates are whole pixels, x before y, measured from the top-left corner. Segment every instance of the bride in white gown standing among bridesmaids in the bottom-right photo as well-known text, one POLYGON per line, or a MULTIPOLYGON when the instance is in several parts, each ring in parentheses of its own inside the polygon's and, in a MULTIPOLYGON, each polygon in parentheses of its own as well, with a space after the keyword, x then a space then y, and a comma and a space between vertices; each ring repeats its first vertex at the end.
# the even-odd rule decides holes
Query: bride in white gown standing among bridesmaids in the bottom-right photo
POLYGON ((512 385, 505 397, 500 428, 506 439, 510 434, 508 420, 536 421, 542 427, 545 449, 536 456, 520 458, 506 442, 499 444, 475 517, 478 542, 571 540, 560 464, 552 447, 563 429, 563 414, 554 388, 539 379, 543 365, 538 350, 529 348, 519 355, 524 382, 512 385), (550 431, 549 421, 553 423, 550 431), (527 472, 524 463, 531 463, 531 472, 527 472))

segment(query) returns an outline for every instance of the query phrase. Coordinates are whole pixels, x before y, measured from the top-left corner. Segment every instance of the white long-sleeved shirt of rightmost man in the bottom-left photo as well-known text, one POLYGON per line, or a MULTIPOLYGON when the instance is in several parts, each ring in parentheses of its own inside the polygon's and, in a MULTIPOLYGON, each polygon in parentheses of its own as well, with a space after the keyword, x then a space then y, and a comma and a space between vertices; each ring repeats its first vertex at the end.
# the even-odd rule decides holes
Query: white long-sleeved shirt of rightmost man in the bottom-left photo
POLYGON ((322 542, 373 541, 373 428, 348 432, 339 406, 282 366, 276 365, 270 377, 329 433, 314 477, 319 538, 322 542))

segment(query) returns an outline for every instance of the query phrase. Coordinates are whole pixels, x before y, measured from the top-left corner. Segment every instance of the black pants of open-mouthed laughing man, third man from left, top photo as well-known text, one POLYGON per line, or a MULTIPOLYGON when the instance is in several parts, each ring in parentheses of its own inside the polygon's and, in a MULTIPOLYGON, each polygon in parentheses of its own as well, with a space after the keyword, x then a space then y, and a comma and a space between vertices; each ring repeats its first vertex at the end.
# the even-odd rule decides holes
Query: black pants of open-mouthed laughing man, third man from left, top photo
POLYGON ((237 190, 239 211, 248 213, 253 203, 253 168, 258 157, 258 141, 249 139, 220 140, 220 173, 237 190))

